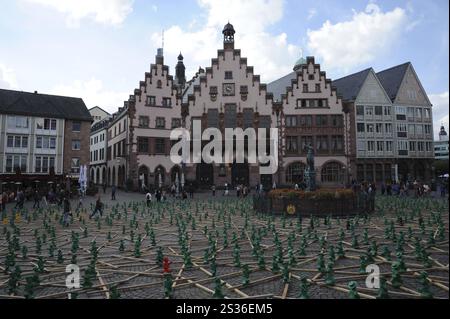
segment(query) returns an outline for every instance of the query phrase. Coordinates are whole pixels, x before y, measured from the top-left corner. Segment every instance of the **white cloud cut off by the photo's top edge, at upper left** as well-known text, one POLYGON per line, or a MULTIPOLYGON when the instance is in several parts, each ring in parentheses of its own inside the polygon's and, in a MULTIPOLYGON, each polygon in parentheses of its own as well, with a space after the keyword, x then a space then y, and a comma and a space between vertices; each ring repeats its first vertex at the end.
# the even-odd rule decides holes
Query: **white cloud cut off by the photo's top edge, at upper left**
POLYGON ((70 27, 78 27, 85 18, 105 25, 120 25, 133 11, 134 0, 26 0, 53 8, 67 16, 70 27))

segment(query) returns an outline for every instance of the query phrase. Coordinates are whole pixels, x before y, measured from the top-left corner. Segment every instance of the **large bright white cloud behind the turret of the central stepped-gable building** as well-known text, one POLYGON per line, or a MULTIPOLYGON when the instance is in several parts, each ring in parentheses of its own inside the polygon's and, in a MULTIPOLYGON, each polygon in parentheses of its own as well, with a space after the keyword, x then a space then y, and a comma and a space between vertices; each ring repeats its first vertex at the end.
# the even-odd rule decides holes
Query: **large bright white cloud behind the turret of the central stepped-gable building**
MULTIPOLYGON (((292 71, 300 48, 289 43, 285 33, 273 35, 267 31, 282 19, 283 0, 198 0, 198 4, 205 15, 187 27, 174 25, 164 32, 166 64, 174 65, 182 51, 188 77, 199 66, 210 66, 211 58, 222 47, 222 28, 229 21, 236 30, 236 48, 263 82, 292 71)), ((154 45, 160 45, 160 34, 151 38, 154 45)))

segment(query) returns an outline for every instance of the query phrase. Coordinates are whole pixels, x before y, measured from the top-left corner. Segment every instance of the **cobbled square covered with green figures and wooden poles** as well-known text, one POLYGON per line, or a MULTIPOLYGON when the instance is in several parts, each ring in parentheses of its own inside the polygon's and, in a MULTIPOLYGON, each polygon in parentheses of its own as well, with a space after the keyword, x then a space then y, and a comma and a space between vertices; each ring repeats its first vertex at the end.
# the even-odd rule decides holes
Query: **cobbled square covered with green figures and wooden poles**
POLYGON ((142 194, 102 196, 101 218, 89 219, 86 198, 69 227, 57 206, 8 207, 0 298, 449 297, 446 200, 380 197, 371 216, 318 219, 258 215, 250 198, 196 194, 147 207, 142 194), (79 289, 66 287, 69 264, 79 289), (382 289, 367 287, 367 265, 382 289))

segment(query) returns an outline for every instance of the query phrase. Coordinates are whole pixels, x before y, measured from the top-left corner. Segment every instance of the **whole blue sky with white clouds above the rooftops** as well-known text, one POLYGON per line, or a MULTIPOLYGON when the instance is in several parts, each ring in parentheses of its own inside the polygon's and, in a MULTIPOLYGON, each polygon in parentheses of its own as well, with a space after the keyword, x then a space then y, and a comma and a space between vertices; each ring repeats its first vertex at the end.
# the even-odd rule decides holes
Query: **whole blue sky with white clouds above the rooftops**
POLYGON ((222 48, 223 26, 265 83, 315 56, 333 79, 410 61, 449 124, 448 0, 0 0, 0 88, 81 97, 114 112, 162 46, 191 78, 222 48))

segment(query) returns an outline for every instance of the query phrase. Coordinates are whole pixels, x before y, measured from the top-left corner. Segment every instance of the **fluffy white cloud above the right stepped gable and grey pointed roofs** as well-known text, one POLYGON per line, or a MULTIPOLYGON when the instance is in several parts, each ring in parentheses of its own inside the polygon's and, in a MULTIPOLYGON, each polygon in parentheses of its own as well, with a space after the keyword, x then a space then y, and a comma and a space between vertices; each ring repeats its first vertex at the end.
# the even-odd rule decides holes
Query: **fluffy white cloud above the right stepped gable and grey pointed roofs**
POLYGON ((369 3, 364 12, 354 11, 349 21, 327 20, 320 29, 308 30, 308 48, 325 68, 348 72, 384 54, 407 26, 404 9, 382 12, 369 3))

